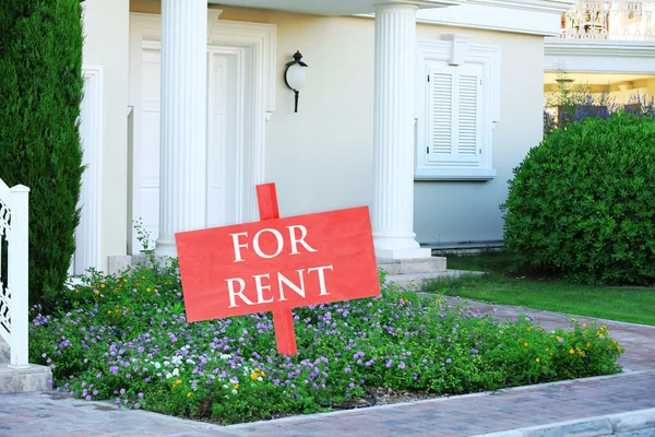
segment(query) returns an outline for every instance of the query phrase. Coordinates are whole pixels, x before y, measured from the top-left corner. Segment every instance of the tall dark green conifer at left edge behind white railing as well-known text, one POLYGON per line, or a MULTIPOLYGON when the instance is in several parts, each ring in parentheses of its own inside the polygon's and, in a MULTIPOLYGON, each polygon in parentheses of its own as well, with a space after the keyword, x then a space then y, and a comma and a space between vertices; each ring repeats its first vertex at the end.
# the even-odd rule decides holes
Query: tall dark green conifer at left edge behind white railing
POLYGON ((80 221, 80 0, 0 4, 0 178, 29 194, 29 302, 63 286, 80 221))

